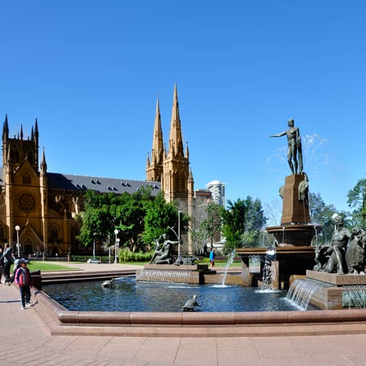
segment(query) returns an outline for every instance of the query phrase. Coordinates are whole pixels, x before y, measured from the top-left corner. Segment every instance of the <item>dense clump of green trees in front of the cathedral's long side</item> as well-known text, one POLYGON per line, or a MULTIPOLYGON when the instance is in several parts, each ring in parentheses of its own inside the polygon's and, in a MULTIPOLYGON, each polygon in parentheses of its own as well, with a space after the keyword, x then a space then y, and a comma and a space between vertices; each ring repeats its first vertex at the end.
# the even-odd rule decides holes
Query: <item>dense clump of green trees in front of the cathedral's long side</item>
MULTIPOLYGON (((93 240, 107 247, 114 245, 115 229, 119 231, 120 248, 133 252, 143 251, 146 244, 151 244, 163 233, 167 238, 176 240, 169 227, 177 232, 177 207, 173 203, 167 204, 162 193, 153 198, 150 188, 122 195, 86 191, 84 202, 78 240, 85 246, 92 245, 93 240)), ((188 217, 181 213, 181 233, 184 233, 187 224, 188 217)))

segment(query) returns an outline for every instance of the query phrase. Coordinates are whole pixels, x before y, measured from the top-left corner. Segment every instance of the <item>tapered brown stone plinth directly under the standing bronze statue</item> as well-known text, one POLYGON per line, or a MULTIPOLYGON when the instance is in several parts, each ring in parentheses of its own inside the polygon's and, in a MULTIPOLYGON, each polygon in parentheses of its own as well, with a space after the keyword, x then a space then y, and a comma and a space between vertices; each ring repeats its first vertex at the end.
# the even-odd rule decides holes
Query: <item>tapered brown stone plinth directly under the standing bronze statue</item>
POLYGON ((305 175, 293 174, 285 177, 283 186, 281 225, 310 222, 309 207, 299 201, 298 185, 305 180, 305 175))

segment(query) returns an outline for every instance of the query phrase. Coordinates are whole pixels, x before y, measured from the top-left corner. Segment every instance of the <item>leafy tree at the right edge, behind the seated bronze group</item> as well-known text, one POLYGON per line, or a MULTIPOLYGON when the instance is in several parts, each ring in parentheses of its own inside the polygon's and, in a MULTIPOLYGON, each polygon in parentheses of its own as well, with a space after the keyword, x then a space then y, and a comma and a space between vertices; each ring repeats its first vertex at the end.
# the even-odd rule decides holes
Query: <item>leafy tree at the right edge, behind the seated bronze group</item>
POLYGON ((347 204, 352 211, 352 224, 366 230, 366 179, 360 179, 347 194, 347 204))

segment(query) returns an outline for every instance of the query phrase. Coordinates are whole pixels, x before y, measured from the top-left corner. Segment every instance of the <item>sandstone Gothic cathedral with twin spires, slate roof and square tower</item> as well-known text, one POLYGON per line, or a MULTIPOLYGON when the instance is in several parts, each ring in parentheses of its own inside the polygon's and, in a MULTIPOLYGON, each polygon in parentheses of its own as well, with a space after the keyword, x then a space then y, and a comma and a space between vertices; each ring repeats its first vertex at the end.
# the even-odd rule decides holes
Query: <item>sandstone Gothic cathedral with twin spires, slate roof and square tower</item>
MULTIPOLYGON (((152 194, 164 192, 167 202, 175 200, 178 209, 189 217, 195 206, 210 200, 206 191, 194 191, 189 167, 189 149, 182 141, 177 86, 173 93, 173 110, 168 149, 163 143, 160 106, 157 100, 153 148, 146 162, 146 181, 67 175, 48 172, 45 152, 39 156, 37 119, 30 136, 23 128, 9 136, 8 115, 2 133, 3 168, 0 175, 0 240, 9 242, 21 256, 46 253, 66 256, 87 253, 77 242, 79 226, 75 215, 84 209, 84 193, 93 189, 101 193, 133 193, 142 186, 151 186, 152 194)), ((191 235, 186 238, 192 253, 191 235)), ((98 248, 97 248, 98 251, 98 248)))

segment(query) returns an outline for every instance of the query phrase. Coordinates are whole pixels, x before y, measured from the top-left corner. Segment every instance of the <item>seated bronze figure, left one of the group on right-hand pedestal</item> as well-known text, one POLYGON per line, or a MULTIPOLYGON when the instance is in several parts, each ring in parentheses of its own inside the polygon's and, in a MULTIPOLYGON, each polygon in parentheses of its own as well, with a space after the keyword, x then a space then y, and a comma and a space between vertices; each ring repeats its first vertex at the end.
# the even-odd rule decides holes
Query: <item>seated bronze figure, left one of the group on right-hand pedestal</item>
POLYGON ((331 235, 331 247, 327 250, 330 253, 325 271, 328 273, 337 272, 337 274, 347 273, 347 264, 345 263, 345 253, 348 240, 351 238, 351 232, 343 227, 343 217, 336 215, 334 218, 336 228, 331 235))

